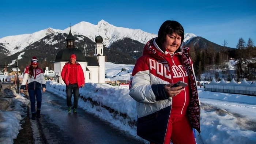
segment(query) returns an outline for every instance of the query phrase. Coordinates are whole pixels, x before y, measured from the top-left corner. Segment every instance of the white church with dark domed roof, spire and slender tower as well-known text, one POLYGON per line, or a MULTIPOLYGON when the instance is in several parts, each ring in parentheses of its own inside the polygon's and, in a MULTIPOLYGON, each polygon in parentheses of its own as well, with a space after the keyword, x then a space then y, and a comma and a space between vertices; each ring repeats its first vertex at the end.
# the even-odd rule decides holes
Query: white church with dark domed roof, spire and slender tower
POLYGON ((66 62, 70 61, 71 54, 76 55, 76 61, 82 66, 84 72, 85 83, 105 83, 105 56, 103 56, 103 38, 97 36, 95 38, 95 54, 93 57, 84 56, 80 49, 75 48, 75 37, 69 30, 67 47, 60 50, 55 58, 54 72, 57 77, 56 82, 64 84, 61 78, 61 71, 66 62))

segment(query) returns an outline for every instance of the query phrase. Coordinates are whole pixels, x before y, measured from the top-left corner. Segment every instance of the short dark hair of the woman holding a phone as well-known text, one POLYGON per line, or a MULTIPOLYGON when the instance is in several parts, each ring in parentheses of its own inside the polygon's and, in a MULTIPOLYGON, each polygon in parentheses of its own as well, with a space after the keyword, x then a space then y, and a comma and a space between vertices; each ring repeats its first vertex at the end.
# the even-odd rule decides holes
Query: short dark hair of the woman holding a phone
POLYGON ((184 40, 184 29, 180 23, 174 20, 166 20, 158 30, 158 41, 163 44, 167 34, 176 33, 181 36, 181 44, 184 40))

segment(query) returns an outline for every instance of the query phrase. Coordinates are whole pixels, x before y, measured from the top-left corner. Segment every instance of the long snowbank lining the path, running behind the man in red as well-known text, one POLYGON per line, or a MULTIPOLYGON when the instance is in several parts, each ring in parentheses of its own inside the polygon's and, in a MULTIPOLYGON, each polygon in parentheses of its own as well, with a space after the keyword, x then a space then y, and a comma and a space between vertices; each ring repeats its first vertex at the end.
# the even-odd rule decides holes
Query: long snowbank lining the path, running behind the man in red
MULTIPOLYGON (((53 92, 63 98, 66 98, 65 84, 57 82, 46 82, 48 91, 53 92)), ((81 96, 85 99, 97 102, 99 105, 107 106, 114 111, 127 114, 131 120, 137 120, 136 101, 129 96, 129 89, 106 86, 103 84, 86 83, 79 89, 81 96)))

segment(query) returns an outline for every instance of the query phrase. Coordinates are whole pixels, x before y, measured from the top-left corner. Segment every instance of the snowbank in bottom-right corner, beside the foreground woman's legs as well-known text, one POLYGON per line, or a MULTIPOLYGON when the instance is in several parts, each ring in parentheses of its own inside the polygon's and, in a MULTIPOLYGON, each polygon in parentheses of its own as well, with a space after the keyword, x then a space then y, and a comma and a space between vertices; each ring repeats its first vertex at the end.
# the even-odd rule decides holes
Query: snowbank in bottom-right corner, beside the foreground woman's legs
POLYGON ((226 110, 202 106, 200 137, 204 144, 255 144, 256 132, 245 129, 241 125, 244 122, 244 119, 235 117, 226 110))

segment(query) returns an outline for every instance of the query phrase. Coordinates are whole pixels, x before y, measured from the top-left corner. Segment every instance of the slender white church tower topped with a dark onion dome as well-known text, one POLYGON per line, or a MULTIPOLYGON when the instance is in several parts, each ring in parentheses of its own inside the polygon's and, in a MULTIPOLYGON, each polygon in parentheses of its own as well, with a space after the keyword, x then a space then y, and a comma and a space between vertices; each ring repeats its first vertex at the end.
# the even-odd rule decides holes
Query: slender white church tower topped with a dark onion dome
POLYGON ((95 56, 99 62, 99 82, 105 83, 105 56, 103 56, 103 38, 99 35, 95 38, 95 56))

